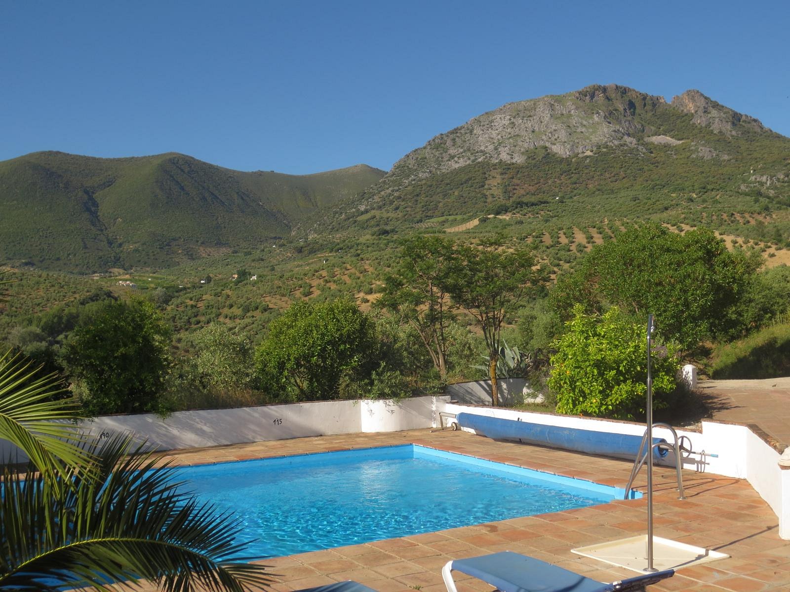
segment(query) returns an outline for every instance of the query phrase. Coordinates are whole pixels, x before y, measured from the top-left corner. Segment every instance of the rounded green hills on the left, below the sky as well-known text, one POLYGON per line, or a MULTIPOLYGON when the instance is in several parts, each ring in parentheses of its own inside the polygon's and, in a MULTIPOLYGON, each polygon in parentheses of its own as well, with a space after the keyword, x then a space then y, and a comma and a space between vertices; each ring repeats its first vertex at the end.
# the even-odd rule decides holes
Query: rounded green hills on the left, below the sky
POLYGON ((0 163, 0 261, 70 272, 167 268, 286 236, 301 215, 382 174, 363 165, 245 173, 175 153, 36 152, 0 163))

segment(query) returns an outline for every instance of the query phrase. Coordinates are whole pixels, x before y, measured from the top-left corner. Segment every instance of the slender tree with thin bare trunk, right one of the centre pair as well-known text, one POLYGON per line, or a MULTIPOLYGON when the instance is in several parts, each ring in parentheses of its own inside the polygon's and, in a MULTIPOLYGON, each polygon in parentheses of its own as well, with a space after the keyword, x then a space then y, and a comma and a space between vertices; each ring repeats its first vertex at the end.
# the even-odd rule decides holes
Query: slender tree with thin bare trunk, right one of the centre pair
POLYGON ((496 367, 502 323, 530 290, 544 283, 544 268, 538 267, 531 250, 505 249, 495 240, 456 249, 446 290, 480 325, 488 350, 491 399, 498 405, 496 367))

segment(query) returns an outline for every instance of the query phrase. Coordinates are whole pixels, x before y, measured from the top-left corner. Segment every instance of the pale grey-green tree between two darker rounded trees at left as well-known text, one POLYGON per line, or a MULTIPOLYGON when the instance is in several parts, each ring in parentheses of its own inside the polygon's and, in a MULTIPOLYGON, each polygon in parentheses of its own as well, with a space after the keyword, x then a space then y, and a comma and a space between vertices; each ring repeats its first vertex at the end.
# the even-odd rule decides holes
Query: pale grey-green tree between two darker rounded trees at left
POLYGON ((254 380, 254 350, 245 336, 212 323, 193 338, 195 369, 209 388, 249 388, 254 380))

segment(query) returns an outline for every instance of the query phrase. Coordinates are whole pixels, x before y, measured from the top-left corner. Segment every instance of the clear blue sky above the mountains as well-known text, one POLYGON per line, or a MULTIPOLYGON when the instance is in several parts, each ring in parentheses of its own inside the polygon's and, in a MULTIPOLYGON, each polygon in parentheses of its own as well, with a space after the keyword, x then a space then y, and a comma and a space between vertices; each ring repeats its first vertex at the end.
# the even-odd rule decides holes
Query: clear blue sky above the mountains
POLYGON ((389 169, 503 103, 611 82, 698 88, 790 136, 788 39, 788 0, 6 0, 0 160, 389 169))

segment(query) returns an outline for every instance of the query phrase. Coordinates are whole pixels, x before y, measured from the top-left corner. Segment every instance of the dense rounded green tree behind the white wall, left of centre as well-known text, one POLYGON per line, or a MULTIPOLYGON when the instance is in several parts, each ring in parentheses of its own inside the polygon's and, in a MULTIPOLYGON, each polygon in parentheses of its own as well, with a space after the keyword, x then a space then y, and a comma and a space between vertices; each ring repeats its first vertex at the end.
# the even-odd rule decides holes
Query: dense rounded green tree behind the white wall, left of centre
POLYGON ((340 398, 343 380, 378 369, 372 320, 352 302, 294 302, 269 325, 255 360, 265 388, 296 401, 340 398))

